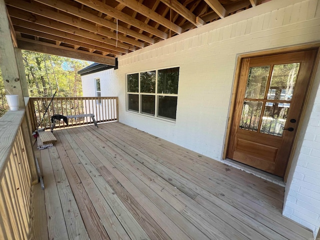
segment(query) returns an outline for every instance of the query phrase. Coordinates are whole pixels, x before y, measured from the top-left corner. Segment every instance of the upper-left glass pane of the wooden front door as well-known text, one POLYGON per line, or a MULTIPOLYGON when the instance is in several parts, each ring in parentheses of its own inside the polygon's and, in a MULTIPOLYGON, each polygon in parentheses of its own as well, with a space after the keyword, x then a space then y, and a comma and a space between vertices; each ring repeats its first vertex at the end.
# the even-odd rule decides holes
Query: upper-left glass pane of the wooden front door
POLYGON ((263 99, 270 66, 254 66, 249 68, 244 98, 263 99))

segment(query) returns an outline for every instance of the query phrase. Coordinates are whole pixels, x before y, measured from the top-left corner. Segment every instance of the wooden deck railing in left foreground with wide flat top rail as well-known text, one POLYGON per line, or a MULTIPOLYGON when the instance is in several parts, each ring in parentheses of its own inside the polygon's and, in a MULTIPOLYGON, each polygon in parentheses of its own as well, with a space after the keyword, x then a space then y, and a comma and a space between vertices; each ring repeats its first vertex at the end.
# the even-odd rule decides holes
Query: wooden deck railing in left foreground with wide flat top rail
POLYGON ((28 159, 25 110, 0 118, 0 239, 28 239, 34 159, 28 159), (32 162, 33 161, 33 162, 32 162), (30 165, 32 162, 32 165, 30 165))

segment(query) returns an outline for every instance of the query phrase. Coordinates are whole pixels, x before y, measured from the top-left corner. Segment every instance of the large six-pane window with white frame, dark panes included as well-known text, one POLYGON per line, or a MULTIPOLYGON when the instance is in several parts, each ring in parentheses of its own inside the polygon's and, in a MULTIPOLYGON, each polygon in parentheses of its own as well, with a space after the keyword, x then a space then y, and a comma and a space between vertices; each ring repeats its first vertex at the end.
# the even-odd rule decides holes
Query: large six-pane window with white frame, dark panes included
POLYGON ((175 120, 179 67, 126 75, 127 110, 175 120))

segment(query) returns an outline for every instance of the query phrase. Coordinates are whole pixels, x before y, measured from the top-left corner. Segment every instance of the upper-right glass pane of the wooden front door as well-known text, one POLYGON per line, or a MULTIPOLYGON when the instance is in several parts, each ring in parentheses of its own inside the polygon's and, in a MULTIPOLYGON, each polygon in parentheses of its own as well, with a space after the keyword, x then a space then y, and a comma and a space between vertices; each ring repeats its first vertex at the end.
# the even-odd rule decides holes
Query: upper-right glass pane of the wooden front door
POLYGON ((274 65, 267 99, 291 100, 300 63, 274 65))

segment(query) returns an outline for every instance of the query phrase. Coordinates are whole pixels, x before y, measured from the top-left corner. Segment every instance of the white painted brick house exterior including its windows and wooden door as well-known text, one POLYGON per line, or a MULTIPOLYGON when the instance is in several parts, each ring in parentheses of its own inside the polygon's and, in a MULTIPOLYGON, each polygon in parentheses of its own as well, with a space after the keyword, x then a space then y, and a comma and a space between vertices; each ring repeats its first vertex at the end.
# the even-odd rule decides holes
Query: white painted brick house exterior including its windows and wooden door
POLYGON ((97 63, 82 69, 83 96, 118 96, 122 123, 215 160, 230 157, 284 177, 283 215, 315 236, 320 66, 317 52, 301 50, 319 43, 318 0, 272 0, 119 56, 117 69, 97 63), (276 53, 282 54, 270 56, 276 53), (263 143, 254 135, 259 130, 263 143), (282 135, 286 140, 273 144, 282 135))

